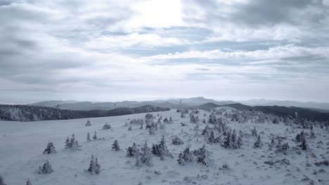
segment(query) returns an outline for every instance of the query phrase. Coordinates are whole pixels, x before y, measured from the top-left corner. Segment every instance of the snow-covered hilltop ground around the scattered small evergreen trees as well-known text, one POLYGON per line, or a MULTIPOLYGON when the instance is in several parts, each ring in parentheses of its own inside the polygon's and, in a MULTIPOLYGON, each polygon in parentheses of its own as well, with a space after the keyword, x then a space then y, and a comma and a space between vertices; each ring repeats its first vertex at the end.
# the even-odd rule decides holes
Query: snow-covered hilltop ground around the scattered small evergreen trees
MULTIPOLYGON (((230 112, 230 108, 225 111, 230 112)), ((191 111, 190 111, 191 112, 191 111)), ((129 124, 134 118, 144 118, 146 114, 132 114, 127 116, 113 116, 105 118, 84 118, 67 121, 38 121, 38 122, 10 122, 0 121, 0 175, 6 184, 25 184, 30 179, 32 184, 329 184, 329 166, 314 165, 316 162, 329 160, 329 132, 314 126, 316 138, 307 135, 307 151, 293 149, 299 145, 293 141, 302 128, 296 125, 288 126, 283 123, 237 123, 228 121, 229 128, 243 132, 243 145, 239 149, 225 149, 221 146, 224 135, 214 130, 214 135, 221 135, 219 143, 211 143, 208 137, 202 135, 207 123, 209 111, 200 111, 200 121, 191 123, 189 114, 181 118, 176 109, 153 113, 159 118, 172 116, 174 123, 165 124, 164 129, 158 128, 155 135, 148 130, 139 129, 140 125, 129 124), (204 114, 207 114, 204 116, 204 114), (91 126, 85 126, 86 121, 91 126), (124 125, 125 123, 127 125, 124 125), (182 126, 181 122, 186 123, 182 126), (112 130, 102 130, 103 125, 109 123, 112 130), (199 125, 199 128, 195 128, 199 125), (131 126, 132 130, 128 130, 131 126), (253 128, 257 129, 262 147, 255 149, 257 137, 251 135, 253 128), (105 140, 87 142, 86 135, 97 132, 98 138, 105 140), (75 134, 81 146, 77 151, 65 149, 65 139, 75 134), (153 165, 136 167, 135 158, 127 157, 126 149, 136 142, 141 148, 145 142, 151 147, 158 144, 164 135, 167 147, 174 158, 165 157, 160 160, 152 157, 153 165), (174 135, 180 137, 184 144, 174 145, 174 135), (290 149, 287 153, 277 153, 270 150, 272 137, 278 135, 287 137, 290 149), (120 151, 112 149, 112 143, 118 140, 120 151), (43 154, 46 144, 53 142, 56 153, 43 154), (199 149, 205 144, 209 151, 209 166, 196 163, 179 165, 179 153, 190 146, 191 151, 199 149), (101 165, 100 174, 89 174, 91 154, 98 158, 101 165), (285 163, 287 160, 289 163, 285 163), (45 160, 49 160, 53 172, 38 174, 37 170, 45 160), (264 163, 266 161, 266 163, 264 163), (269 164, 268 162, 273 163, 269 164), (277 163, 276 163, 277 162, 277 163), (223 165, 228 164, 228 168, 223 165)), ((210 128, 214 126, 209 124, 210 128)), ((304 130, 309 134, 310 130, 304 130)), ((298 147, 296 147, 298 148, 298 147)))

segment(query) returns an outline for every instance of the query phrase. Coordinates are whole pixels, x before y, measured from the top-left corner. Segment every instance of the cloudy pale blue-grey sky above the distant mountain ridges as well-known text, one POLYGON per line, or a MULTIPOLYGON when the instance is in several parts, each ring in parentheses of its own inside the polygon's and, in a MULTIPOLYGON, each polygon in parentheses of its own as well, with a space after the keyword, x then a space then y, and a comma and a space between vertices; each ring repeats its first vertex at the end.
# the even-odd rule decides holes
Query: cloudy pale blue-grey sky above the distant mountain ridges
POLYGON ((0 102, 329 102, 329 0, 0 0, 0 102))

